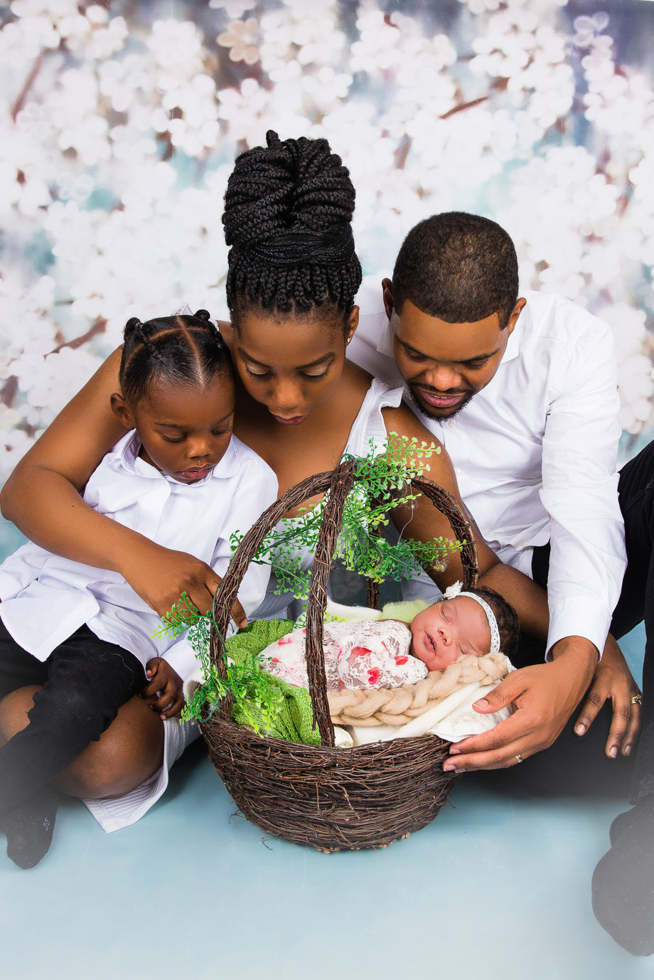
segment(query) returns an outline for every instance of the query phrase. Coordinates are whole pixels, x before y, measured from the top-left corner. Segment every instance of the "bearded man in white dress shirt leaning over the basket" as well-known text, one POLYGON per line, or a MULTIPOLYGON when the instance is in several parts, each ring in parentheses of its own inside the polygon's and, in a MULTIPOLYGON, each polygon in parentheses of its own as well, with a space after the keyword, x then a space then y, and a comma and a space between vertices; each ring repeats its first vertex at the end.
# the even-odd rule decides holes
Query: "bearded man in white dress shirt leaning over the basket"
MULTIPOLYGON (((478 706, 496 711, 513 703, 515 713, 490 733, 458 743, 445 768, 516 765, 550 746, 582 700, 588 668, 603 649, 575 730, 587 731, 611 698, 606 752, 615 759, 622 747, 628 756, 639 695, 617 644, 607 640, 625 569, 615 471, 619 402, 609 328, 557 297, 528 292, 519 298, 509 236, 493 221, 460 213, 437 215, 413 228, 393 282, 384 280, 384 310, 369 307, 365 296, 360 305, 350 357, 385 380, 401 374, 415 411, 444 444, 461 496, 491 548, 548 590, 549 634, 540 652, 548 662, 538 663, 534 644, 525 645, 522 669, 478 706)), ((629 503, 639 499, 648 465, 642 461, 629 503)), ((628 501, 621 501, 625 510, 628 501)), ((632 610, 622 619, 637 621, 632 610)), ((577 779, 582 765, 587 774, 591 747, 579 740, 575 746, 571 731, 572 723, 543 755, 577 779)), ((590 768, 604 780, 601 765, 590 768)), ((654 804, 654 796, 649 799, 654 804)), ((654 806, 635 810, 654 816, 654 806)), ((650 825, 649 815, 640 819, 643 825, 650 825)), ((625 861, 631 867, 636 858, 621 853, 625 861)), ((616 925, 597 910, 603 890, 608 892, 600 870, 598 917, 631 948, 625 923, 616 925)), ((649 948, 633 952, 650 953, 654 881, 647 879, 642 888, 649 895, 649 948)), ((641 936, 638 927, 636 945, 641 936)))

